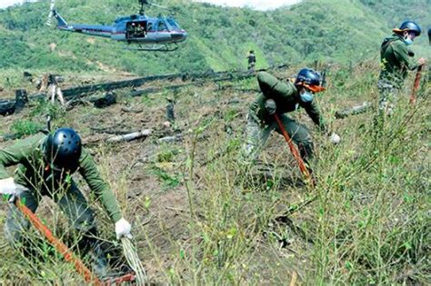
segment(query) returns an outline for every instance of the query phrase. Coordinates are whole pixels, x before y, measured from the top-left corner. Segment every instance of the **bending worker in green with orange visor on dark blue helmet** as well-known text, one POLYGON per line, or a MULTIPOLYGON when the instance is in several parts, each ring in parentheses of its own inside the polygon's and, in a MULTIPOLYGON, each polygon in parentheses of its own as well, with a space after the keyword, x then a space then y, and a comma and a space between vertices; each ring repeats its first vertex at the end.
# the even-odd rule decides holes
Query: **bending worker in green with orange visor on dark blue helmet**
MULTIPOLYGON (((316 93, 325 90, 325 87, 320 85, 320 74, 312 69, 303 68, 297 74, 295 82, 282 82, 271 74, 261 72, 257 74, 257 82, 262 94, 250 104, 248 110, 246 144, 243 151, 247 162, 256 160, 271 131, 282 133, 274 116, 277 114, 311 171, 309 163, 314 149, 311 135, 304 124, 296 122, 285 113, 304 108, 319 130, 327 133, 326 124, 314 100, 316 93)), ((340 137, 332 133, 331 142, 339 141, 340 137)))

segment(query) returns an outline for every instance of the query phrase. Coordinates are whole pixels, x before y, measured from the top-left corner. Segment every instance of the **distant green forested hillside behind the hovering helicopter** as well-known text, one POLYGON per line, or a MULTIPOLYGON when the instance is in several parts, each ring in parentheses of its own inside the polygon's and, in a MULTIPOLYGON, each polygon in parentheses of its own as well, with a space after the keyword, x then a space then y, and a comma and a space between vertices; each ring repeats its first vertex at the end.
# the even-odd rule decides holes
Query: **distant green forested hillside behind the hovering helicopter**
MULTIPOLYGON (((110 24, 137 12, 135 0, 59 0, 69 23, 110 24)), ((0 10, 0 68, 51 71, 162 74, 213 69, 246 69, 255 49, 257 68, 271 64, 346 63, 378 55, 382 38, 406 18, 431 25, 429 1, 305 1, 270 12, 164 0, 189 39, 174 53, 132 52, 109 39, 60 32, 45 25, 43 1, 0 10), (428 4, 428 5, 427 5, 428 4)), ((150 7, 147 15, 158 15, 150 7)), ((414 45, 426 54, 427 39, 414 45)), ((428 52, 429 53, 429 52, 428 52)))

